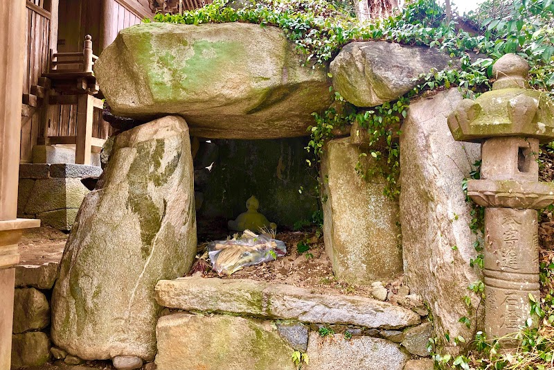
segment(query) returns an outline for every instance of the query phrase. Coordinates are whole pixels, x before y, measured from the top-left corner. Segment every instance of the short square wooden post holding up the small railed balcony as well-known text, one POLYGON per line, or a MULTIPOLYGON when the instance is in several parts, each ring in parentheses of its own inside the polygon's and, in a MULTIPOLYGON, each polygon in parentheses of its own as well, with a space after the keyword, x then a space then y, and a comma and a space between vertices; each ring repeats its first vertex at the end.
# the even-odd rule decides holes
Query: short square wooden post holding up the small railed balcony
POLYGON ((79 95, 75 164, 91 164, 93 98, 94 96, 89 94, 79 95))

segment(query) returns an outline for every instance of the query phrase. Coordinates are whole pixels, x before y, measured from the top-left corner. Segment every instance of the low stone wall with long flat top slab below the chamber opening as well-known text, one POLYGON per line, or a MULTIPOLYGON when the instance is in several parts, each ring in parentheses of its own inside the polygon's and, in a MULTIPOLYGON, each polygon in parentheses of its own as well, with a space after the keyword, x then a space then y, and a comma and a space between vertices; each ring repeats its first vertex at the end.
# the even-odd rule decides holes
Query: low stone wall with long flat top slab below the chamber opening
POLYGON ((428 355, 433 336, 431 322, 402 306, 262 281, 159 281, 156 299, 186 311, 158 321, 159 370, 292 370, 294 351, 307 353, 308 370, 402 370, 428 355))

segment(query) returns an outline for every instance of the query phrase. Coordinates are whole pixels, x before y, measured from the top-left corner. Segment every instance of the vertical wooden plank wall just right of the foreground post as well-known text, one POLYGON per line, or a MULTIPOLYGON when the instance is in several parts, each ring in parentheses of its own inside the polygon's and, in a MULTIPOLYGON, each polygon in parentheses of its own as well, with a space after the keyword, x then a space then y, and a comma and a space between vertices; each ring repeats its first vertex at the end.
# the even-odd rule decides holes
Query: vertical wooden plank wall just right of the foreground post
MULTIPOLYGON (((40 8, 44 7, 44 0, 30 1, 40 8)), ((43 8, 44 9, 44 8, 43 8)), ((50 17, 49 12, 37 12, 30 7, 26 8, 26 37, 24 53, 24 79, 23 94, 30 94, 33 85, 38 84, 42 73, 48 69, 50 17)), ((40 114, 39 110, 33 117, 26 120, 21 126, 21 152, 22 162, 30 161, 31 149, 37 143, 39 135, 40 114)))

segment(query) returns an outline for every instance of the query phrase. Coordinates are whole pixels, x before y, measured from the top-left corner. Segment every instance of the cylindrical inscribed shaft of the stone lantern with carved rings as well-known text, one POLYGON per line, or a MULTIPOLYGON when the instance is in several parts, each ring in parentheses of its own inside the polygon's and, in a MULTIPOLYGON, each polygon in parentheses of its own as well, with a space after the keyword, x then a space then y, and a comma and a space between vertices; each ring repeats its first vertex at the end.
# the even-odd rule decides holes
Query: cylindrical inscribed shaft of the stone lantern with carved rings
POLYGON ((486 209, 485 233, 485 332, 503 337, 526 325, 529 294, 540 297, 537 211, 486 209))

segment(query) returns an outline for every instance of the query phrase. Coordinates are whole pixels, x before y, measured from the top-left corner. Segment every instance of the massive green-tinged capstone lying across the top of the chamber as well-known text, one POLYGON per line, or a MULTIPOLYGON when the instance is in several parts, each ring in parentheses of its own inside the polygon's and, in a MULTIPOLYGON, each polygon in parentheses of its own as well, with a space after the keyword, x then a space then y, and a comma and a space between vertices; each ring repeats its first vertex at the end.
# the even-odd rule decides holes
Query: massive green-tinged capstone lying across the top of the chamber
POLYGON ((331 101, 326 69, 303 67, 276 27, 141 24, 122 30, 95 73, 114 114, 179 114, 194 136, 306 135, 331 101))

